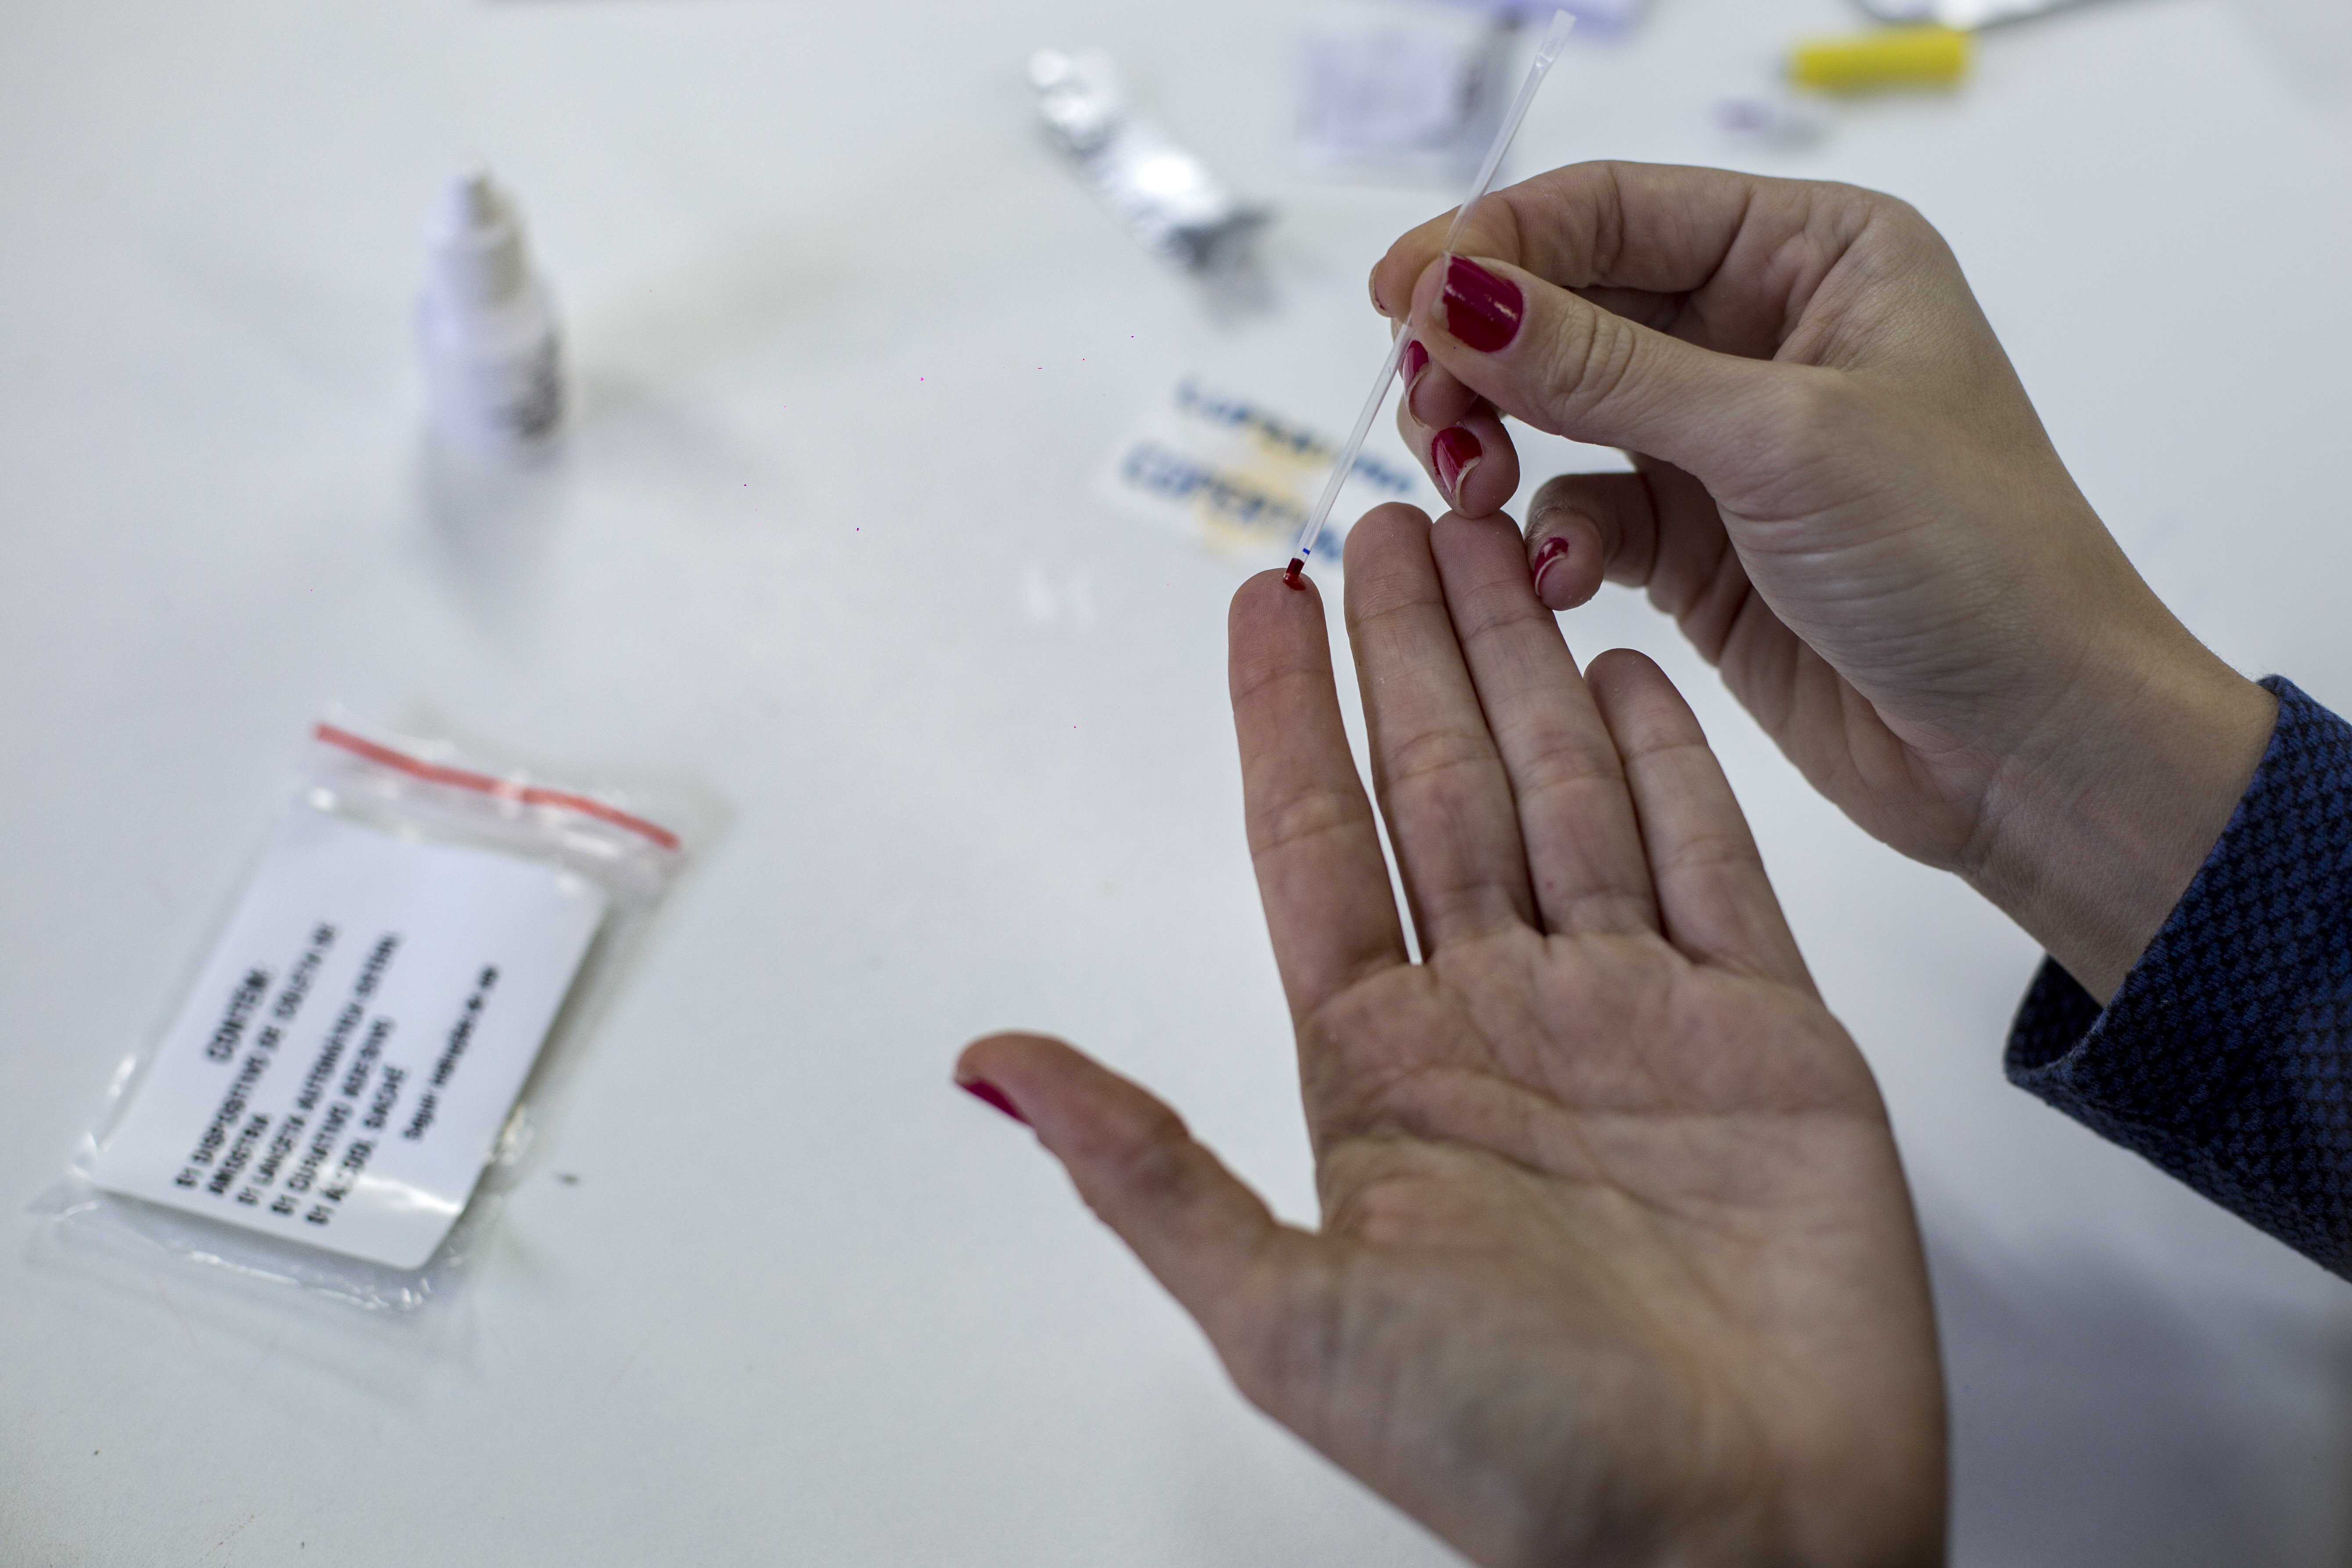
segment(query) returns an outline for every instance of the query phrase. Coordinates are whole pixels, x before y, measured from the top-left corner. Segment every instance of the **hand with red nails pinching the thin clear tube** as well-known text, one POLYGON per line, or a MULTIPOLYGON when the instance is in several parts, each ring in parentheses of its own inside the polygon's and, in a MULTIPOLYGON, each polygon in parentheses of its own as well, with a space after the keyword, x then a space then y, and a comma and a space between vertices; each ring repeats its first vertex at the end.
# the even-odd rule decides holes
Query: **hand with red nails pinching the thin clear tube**
POLYGON ((1456 508, 1517 487, 1498 411, 1635 454, 1536 494, 1543 602, 1649 588, 1823 795, 2107 997, 2274 703, 2100 527, 1943 237, 1851 186, 1642 165, 1442 237, 1397 240, 1371 294, 1425 348, 1399 423, 1456 508))

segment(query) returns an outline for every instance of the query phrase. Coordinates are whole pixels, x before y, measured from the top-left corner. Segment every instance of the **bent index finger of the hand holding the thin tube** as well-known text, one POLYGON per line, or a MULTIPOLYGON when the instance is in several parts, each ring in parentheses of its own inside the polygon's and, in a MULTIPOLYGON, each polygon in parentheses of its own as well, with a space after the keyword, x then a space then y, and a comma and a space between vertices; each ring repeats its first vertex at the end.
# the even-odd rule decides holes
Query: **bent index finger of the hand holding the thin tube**
MULTIPOLYGON (((1896 207, 1856 186, 1583 162, 1489 195, 1454 249, 1590 289, 1602 308, 1705 348, 1771 357, 1839 256, 1896 207), (1656 320, 1677 296, 1689 299, 1670 308, 1675 320, 1656 320), (1635 303, 1651 308, 1628 310, 1635 303)), ((1414 228, 1371 270, 1383 315, 1411 308, 1414 280, 1439 256, 1449 219, 1414 228)))

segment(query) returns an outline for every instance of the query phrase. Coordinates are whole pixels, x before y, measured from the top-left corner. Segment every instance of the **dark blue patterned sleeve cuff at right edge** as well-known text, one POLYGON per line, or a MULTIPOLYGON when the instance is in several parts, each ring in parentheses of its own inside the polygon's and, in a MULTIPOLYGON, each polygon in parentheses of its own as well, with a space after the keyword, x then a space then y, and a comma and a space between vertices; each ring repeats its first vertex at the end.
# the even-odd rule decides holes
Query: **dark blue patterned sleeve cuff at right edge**
POLYGON ((2352 724, 2279 724, 2197 879, 2105 1011, 2056 961, 2009 1081, 2352 1279, 2352 724))

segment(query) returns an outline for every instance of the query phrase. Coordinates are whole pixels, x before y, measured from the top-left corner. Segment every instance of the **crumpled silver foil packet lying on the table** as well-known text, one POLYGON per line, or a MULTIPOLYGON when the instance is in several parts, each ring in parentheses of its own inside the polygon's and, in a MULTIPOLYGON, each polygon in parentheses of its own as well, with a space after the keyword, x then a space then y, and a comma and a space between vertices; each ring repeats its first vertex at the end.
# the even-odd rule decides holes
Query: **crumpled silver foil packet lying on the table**
POLYGON ((1183 143, 1134 113, 1103 54, 1040 49, 1030 87, 1047 136, 1143 249, 1192 273, 1235 273, 1272 212, 1237 197, 1183 143))

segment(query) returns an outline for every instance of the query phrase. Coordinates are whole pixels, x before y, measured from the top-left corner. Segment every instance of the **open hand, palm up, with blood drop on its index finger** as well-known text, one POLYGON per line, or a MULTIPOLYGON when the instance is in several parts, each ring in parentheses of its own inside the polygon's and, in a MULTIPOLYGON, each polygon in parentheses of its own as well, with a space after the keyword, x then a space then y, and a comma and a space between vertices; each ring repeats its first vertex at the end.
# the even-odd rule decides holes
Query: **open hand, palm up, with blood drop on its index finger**
POLYGON ((1936 1563, 1943 1387, 1886 1114, 1656 665, 1590 682, 1505 517, 1348 538, 1406 954, 1319 599, 1232 602, 1249 844, 1322 1227, 1143 1088, 1000 1034, 1037 1128, 1242 1392, 1468 1556, 1936 1563))

